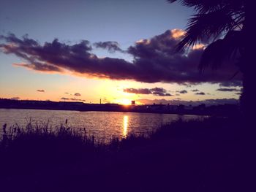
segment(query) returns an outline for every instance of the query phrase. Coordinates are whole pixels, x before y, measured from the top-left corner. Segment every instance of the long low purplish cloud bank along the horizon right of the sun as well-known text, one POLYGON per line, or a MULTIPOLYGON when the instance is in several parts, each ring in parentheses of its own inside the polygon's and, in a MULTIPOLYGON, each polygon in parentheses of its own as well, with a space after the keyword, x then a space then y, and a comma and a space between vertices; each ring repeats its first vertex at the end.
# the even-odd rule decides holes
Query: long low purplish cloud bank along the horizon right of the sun
POLYGON ((142 104, 172 104, 172 105, 178 105, 178 104, 184 104, 184 105, 192 105, 197 106, 199 104, 206 104, 206 106, 211 105, 219 105, 219 104, 238 104, 238 99, 205 99, 200 101, 184 101, 181 99, 172 99, 172 100, 166 100, 166 99, 138 99, 136 100, 142 104))

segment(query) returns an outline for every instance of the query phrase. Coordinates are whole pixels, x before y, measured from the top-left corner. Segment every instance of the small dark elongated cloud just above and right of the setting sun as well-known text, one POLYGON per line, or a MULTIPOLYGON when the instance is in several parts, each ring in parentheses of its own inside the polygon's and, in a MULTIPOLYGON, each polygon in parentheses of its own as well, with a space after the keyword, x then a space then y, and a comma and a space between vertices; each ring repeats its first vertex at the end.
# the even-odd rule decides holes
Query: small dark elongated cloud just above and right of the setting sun
POLYGON ((125 88, 124 92, 135 94, 152 94, 155 96, 172 96, 170 93, 167 93, 167 90, 164 88, 125 88))

